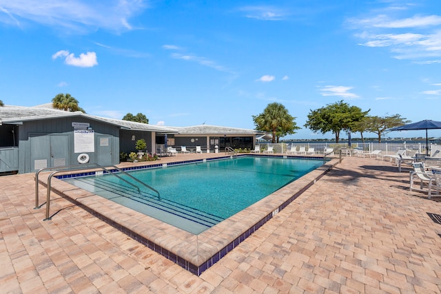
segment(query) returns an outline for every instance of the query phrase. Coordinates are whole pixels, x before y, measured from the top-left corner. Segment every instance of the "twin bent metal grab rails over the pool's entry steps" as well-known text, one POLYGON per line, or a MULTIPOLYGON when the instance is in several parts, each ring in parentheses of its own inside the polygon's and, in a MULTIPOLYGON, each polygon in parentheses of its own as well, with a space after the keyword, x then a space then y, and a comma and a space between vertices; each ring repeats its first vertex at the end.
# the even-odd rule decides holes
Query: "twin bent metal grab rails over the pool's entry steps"
MULTIPOLYGON (((121 174, 125 174, 126 176, 132 178, 136 182, 139 182, 144 187, 147 187, 148 189, 156 192, 158 194, 158 200, 161 200, 161 195, 159 194, 158 190, 156 190, 153 187, 145 184, 145 182, 141 182, 141 180, 139 180, 139 179, 135 178, 134 176, 128 174, 127 172, 123 171, 123 169, 120 169, 119 167, 116 167, 114 165, 109 165, 107 167, 101 167, 100 165, 97 165, 95 163, 90 164, 90 165, 93 165, 93 166, 85 168, 85 169, 83 168, 84 165, 68 165, 68 166, 65 166, 65 167, 47 167, 47 168, 44 168, 44 169, 39 169, 39 171, 37 171, 37 173, 35 174, 35 207, 34 207, 34 209, 41 208, 41 207, 39 207, 39 174, 40 174, 40 172, 43 171, 43 170, 58 169, 57 171, 52 171, 52 173, 48 177, 48 183, 47 183, 48 193, 46 195, 46 218, 44 220, 50 220, 51 219, 50 216, 49 216, 49 212, 50 212, 50 190, 51 190, 50 183, 51 183, 52 177, 55 174, 58 174, 58 173, 60 173, 62 171, 73 171, 73 170, 86 171, 86 170, 90 170, 90 169, 101 169, 101 171, 103 171, 104 173, 111 174, 112 176, 116 176, 120 180, 123 180, 124 182, 127 182, 127 184, 132 185, 133 187, 138 189, 138 193, 141 192, 139 187, 134 185, 134 183, 129 182, 128 180, 125 180, 125 179, 121 178, 121 176, 116 174, 114 171, 107 169, 107 167, 112 167, 113 169, 116 169, 117 171, 119 171, 121 174), (78 168, 77 169, 69 169, 70 167, 78 167, 78 168)), ((95 175, 96 175, 96 173, 95 173, 95 175)), ((42 206, 43 206, 43 204, 42 204, 42 206)))

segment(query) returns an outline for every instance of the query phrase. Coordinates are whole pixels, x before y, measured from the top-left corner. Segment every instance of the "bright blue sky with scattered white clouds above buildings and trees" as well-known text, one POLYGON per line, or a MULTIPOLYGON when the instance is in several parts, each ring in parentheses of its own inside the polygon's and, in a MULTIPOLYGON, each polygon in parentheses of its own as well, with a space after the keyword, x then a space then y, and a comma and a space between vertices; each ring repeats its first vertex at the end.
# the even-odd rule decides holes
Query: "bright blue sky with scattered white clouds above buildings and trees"
POLYGON ((97 116, 254 129, 278 102, 298 139, 334 138, 303 125, 340 100, 441 120, 439 0, 0 0, 0 38, 6 105, 69 93, 97 116))

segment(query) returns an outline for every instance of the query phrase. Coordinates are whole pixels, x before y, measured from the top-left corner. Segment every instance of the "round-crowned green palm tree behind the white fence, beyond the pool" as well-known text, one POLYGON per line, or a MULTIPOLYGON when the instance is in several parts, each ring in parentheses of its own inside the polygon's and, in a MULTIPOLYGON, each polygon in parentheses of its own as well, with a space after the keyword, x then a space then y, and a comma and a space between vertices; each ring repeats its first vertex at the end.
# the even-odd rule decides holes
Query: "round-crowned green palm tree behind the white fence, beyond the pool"
POLYGON ((252 116, 256 129, 273 134, 272 143, 278 143, 280 137, 287 134, 295 134, 300 129, 284 105, 280 103, 269 103, 263 113, 252 116))

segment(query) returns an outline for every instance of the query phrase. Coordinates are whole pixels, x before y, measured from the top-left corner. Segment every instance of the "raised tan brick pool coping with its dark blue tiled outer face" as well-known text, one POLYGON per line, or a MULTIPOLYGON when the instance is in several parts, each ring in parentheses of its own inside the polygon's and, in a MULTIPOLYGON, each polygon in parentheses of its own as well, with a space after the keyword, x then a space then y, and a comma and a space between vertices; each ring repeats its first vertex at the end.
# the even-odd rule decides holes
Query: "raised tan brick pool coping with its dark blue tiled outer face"
MULTIPOLYGON (((249 156, 249 154, 246 156, 249 156)), ((230 157, 219 156, 205 160, 219 160, 230 157)), ((278 157, 308 158, 305 156, 278 157)), ((311 158, 318 159, 317 157, 311 158)), ((167 165, 202 161, 204 160, 183 160, 180 162, 169 162, 167 165)), ((240 242, 243 242, 254 231, 262 227, 265 222, 300 196, 301 193, 311 187, 311 185, 314 185, 317 180, 337 165, 338 162, 338 158, 332 158, 325 165, 298 178, 198 235, 178 229, 150 216, 145 216, 143 213, 123 207, 121 204, 101 196, 96 196, 63 180, 53 178, 51 186, 52 191, 55 193, 79 205, 93 216, 111 224, 130 238, 141 242, 141 244, 172 260, 187 271, 195 275, 201 275, 203 271, 207 270, 220 258, 223 258, 229 251, 238 246, 240 242)), ((160 165, 161 167, 163 166, 163 164, 160 165)), ((143 168, 145 166, 129 167, 125 168, 125 170, 143 168)), ((85 176, 86 173, 83 173, 83 175, 85 176)), ((41 182, 45 184, 45 179, 41 179, 41 182)))

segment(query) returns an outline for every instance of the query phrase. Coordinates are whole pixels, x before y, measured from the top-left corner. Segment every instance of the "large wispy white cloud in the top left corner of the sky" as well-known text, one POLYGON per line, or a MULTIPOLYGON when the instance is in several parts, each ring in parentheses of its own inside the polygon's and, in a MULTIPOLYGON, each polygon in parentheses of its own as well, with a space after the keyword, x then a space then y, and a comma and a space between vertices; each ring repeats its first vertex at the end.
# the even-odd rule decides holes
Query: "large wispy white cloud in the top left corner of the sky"
POLYGON ((146 8, 142 0, 1 0, 0 6, 0 12, 8 15, 0 17, 3 23, 19 27, 23 23, 39 23, 64 33, 92 32, 96 28, 132 30, 128 19, 146 8))

